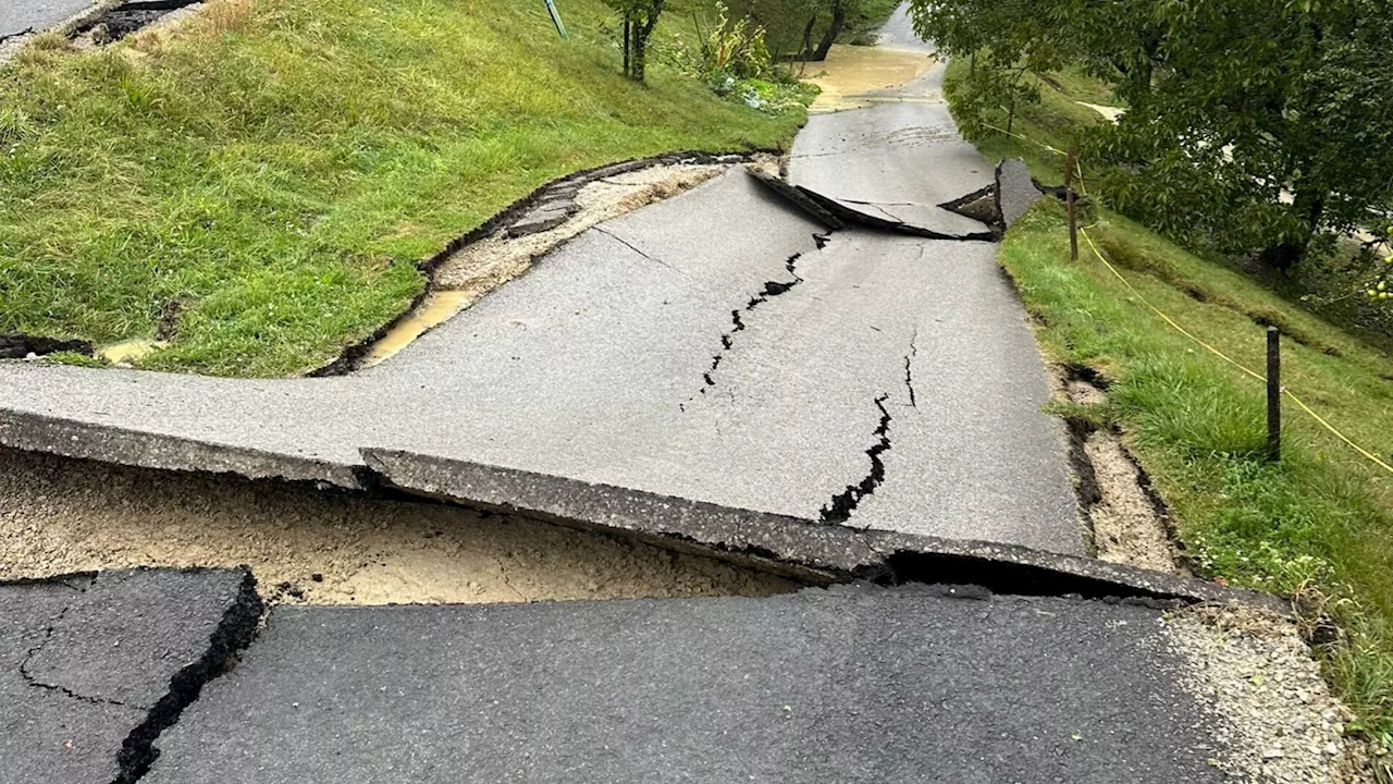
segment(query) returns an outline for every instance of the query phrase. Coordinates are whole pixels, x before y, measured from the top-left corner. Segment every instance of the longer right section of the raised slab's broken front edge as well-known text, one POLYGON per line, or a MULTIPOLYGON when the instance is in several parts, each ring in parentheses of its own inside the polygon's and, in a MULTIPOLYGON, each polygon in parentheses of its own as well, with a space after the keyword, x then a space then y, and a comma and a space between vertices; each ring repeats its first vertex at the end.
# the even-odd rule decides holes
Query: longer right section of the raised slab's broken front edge
POLYGON ((380 481, 405 492, 499 509, 801 576, 812 583, 978 585, 993 593, 1241 601, 1289 614, 1280 598, 1192 578, 1013 544, 859 530, 518 469, 364 449, 380 481))

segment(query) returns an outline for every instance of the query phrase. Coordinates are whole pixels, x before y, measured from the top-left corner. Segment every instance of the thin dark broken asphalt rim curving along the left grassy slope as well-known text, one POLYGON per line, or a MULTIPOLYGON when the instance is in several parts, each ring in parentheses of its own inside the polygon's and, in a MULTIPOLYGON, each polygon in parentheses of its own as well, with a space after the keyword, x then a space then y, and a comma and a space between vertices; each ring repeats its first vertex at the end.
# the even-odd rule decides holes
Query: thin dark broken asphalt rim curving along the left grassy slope
POLYGON ((380 326, 372 331, 371 335, 362 338, 354 343, 350 343, 338 356, 329 360, 327 363, 306 371, 304 375, 309 378, 319 378, 326 375, 348 375, 358 370, 362 360, 372 352, 372 347, 382 340, 393 328, 396 328, 401 321, 410 318, 421 303, 426 300, 436 290, 436 273, 440 266, 468 246, 478 243, 496 232, 503 230, 510 223, 525 216, 534 206, 540 204, 547 198, 547 195, 559 188, 568 187, 584 187, 595 180, 602 180, 605 177, 614 177, 617 174, 627 174, 628 172, 637 172, 639 169, 648 169, 652 166, 670 166, 674 163, 691 162, 691 163, 744 163, 751 160, 754 155, 758 153, 779 155, 777 149, 751 149, 747 152, 730 152, 730 153, 715 153, 702 151, 680 151, 680 152, 664 152, 662 155, 652 155, 648 158, 632 158, 628 160, 620 160, 616 163, 606 163, 603 166, 595 166, 591 169, 581 169, 579 172, 573 172, 570 174, 556 177, 542 183, 534 188, 527 195, 518 198, 513 204, 504 206, 499 212, 495 212, 488 220, 479 223, 474 229, 469 229, 464 234, 446 243, 439 252, 425 259, 417 261, 415 268, 422 275, 425 275, 426 285, 422 286, 421 293, 411 299, 407 307, 391 317, 389 321, 383 322, 380 326))

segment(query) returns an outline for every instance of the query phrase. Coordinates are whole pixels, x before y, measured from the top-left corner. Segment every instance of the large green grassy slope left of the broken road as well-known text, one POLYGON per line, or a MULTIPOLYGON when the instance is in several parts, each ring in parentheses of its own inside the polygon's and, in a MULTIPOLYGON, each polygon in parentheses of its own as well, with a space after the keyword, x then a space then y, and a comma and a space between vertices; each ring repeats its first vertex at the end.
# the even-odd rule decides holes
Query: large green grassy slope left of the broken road
POLYGON ((143 367, 301 371, 549 179, 802 121, 656 66, 631 84, 603 3, 561 10, 568 42, 542 3, 485 0, 212 0, 106 52, 40 39, 0 70, 0 332, 102 345, 164 321, 143 367))

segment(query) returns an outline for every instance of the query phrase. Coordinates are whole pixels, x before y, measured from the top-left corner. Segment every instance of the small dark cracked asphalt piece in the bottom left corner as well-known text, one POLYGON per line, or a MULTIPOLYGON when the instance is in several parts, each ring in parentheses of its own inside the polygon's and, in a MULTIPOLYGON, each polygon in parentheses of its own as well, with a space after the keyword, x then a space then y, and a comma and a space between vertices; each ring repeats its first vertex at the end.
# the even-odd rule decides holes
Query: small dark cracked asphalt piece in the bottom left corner
POLYGON ((259 614, 244 571, 0 583, 0 783, 134 781, 259 614))

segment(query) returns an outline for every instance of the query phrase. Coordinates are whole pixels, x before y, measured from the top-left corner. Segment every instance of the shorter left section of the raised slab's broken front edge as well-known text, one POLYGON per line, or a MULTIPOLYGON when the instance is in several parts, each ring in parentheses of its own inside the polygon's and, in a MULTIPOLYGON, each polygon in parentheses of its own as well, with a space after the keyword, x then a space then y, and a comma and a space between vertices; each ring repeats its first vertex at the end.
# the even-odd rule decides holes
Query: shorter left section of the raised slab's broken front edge
POLYGON ((0 409, 0 446, 142 469, 237 474, 252 480, 315 481, 345 490, 372 487, 362 466, 11 409, 0 409))

